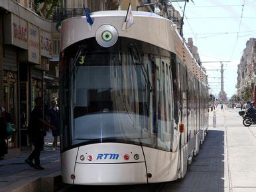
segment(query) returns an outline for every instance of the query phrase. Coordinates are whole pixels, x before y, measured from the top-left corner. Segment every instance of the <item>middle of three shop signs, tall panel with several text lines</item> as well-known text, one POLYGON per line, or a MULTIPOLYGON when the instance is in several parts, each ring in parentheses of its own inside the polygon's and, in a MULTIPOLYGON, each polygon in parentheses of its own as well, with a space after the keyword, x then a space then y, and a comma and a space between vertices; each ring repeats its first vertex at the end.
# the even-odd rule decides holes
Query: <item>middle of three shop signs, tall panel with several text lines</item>
POLYGON ((39 28, 29 23, 29 62, 40 64, 39 28))

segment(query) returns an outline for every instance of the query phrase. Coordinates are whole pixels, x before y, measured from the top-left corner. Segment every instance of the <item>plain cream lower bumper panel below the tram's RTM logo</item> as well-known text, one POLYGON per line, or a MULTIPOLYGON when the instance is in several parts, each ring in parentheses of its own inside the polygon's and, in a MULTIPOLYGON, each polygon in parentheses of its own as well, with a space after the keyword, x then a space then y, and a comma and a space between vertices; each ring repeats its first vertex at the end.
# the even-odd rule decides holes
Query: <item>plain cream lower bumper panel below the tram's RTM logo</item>
POLYGON ((145 162, 130 164, 76 164, 76 185, 127 185, 147 183, 145 162))

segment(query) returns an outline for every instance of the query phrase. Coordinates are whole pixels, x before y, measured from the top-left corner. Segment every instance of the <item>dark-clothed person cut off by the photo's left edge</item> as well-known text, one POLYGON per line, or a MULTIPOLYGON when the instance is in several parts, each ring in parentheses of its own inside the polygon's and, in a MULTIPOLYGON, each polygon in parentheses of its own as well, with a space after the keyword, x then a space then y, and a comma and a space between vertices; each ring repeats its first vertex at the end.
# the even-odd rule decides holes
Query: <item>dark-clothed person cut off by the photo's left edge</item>
POLYGON ((7 125, 5 121, 5 109, 0 107, 0 160, 8 153, 7 144, 7 125))

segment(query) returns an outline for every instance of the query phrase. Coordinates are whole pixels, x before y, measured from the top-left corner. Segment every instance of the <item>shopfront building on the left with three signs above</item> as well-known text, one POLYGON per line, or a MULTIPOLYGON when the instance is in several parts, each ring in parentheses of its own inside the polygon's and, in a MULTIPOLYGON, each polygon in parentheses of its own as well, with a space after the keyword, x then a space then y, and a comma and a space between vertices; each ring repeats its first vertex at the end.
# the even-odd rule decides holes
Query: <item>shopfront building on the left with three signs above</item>
POLYGON ((8 147, 29 146, 27 126, 35 97, 44 97, 44 70, 52 58, 52 24, 32 11, 29 0, 0 1, 0 102, 15 133, 8 147))

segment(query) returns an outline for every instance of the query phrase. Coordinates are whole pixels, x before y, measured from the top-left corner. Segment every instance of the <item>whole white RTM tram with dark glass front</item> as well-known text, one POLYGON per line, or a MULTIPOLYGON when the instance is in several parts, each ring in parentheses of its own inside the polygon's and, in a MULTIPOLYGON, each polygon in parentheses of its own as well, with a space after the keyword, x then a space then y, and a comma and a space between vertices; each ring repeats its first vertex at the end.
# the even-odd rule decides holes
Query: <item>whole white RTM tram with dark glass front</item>
POLYGON ((123 185, 184 177, 208 127, 206 74, 154 13, 92 13, 62 23, 64 183, 123 185))

